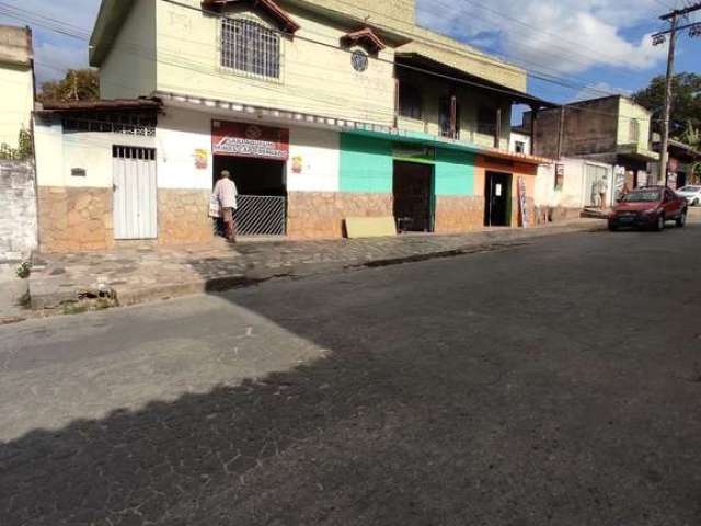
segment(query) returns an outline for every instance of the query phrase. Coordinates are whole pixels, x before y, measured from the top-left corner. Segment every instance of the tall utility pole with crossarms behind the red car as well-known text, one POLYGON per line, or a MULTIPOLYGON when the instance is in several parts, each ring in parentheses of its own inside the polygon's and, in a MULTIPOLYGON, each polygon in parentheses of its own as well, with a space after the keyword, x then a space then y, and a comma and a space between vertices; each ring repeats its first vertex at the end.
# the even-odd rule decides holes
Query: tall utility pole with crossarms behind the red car
POLYGON ((665 106, 662 117, 662 148, 659 157, 659 181, 667 186, 669 178, 669 128, 671 122, 671 99, 673 99, 673 81, 675 76, 675 50, 677 47, 677 33, 680 30, 690 28, 689 36, 699 36, 701 24, 688 24, 683 27, 679 27, 679 19, 681 16, 688 16, 690 13, 701 10, 701 2, 688 5, 685 9, 675 9, 674 11, 664 14, 659 19, 669 22, 669 31, 664 31, 653 35, 653 45, 657 46, 666 42, 666 36, 669 35, 669 53, 667 54, 667 78, 665 80, 665 106))

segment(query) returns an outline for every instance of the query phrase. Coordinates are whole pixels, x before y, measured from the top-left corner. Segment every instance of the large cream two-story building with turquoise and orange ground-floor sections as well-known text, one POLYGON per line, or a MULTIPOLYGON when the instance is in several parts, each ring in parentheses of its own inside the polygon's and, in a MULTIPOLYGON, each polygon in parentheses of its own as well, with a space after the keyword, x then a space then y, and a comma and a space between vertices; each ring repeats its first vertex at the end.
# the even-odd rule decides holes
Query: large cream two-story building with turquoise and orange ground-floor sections
POLYGON ((103 0, 90 56, 104 100, 37 118, 44 250, 204 241, 225 169, 241 233, 518 226, 518 188, 532 214, 547 161, 508 152, 510 112, 549 105, 414 0, 103 0))

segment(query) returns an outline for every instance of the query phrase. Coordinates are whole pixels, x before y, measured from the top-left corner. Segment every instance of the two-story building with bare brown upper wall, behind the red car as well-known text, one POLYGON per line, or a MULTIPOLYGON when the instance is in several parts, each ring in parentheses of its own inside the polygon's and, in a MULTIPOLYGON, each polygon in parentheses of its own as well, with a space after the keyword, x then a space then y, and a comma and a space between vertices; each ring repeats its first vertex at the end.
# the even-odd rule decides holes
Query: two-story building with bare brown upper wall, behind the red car
POLYGON ((524 115, 516 137, 532 130, 533 151, 553 159, 536 185, 538 216, 575 217, 607 208, 624 187, 654 183, 651 113, 623 95, 577 101, 524 115), (604 194, 601 194, 604 191, 604 194))

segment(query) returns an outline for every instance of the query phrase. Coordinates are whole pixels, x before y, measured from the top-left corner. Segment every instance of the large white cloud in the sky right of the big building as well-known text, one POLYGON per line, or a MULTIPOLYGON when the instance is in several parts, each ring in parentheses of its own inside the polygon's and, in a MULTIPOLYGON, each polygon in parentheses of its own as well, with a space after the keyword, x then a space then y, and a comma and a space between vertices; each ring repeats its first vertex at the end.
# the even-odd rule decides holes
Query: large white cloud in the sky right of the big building
POLYGON ((654 22, 660 10, 656 0, 418 0, 418 21, 468 39, 497 32, 507 57, 528 69, 567 75, 658 64, 664 46, 653 47, 648 35, 629 39, 623 33, 654 22))

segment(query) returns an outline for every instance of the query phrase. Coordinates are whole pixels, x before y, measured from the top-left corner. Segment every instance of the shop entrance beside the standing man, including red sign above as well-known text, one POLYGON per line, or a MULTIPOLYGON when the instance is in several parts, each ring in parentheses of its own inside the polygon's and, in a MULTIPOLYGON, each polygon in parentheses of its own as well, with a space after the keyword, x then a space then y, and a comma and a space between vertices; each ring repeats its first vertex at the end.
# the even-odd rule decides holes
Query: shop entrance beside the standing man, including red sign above
POLYGON ((244 123, 212 123, 214 181, 228 170, 239 191, 240 236, 287 233, 289 130, 244 123))

